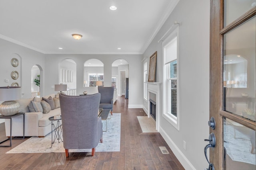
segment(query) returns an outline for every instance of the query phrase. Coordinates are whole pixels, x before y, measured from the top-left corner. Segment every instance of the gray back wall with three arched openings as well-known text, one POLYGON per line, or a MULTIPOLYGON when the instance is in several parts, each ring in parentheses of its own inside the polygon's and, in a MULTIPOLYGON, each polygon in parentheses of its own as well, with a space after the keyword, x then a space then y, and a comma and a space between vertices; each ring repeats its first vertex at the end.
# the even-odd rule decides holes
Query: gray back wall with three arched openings
MULTIPOLYGON (((142 108, 143 98, 143 75, 138 74, 141 71, 142 55, 45 55, 45 63, 47 63, 47 82, 45 91, 48 94, 55 93, 51 88, 54 84, 58 84, 58 64, 64 59, 72 59, 76 63, 76 94, 82 94, 85 91, 84 83, 84 62, 88 59, 98 59, 104 64, 104 86, 111 86, 112 63, 117 59, 124 59, 129 64, 126 68, 129 71, 129 108, 142 108), (133 68, 133 69, 129 69, 133 68)), ((118 68, 119 70, 119 68, 118 68)))

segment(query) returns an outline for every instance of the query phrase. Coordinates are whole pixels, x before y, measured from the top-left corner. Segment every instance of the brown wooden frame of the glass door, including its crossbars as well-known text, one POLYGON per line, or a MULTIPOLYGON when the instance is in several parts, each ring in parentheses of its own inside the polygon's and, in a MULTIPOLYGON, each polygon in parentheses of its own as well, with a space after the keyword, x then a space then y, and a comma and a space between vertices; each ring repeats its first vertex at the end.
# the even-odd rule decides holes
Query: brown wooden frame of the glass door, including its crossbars
POLYGON ((222 169, 223 147, 223 117, 232 119, 256 131, 256 123, 243 119, 238 115, 222 110, 222 38, 225 33, 256 15, 256 7, 252 8, 237 20, 223 29, 223 1, 211 0, 210 2, 210 117, 216 120, 216 128, 210 128, 210 133, 216 136, 216 146, 210 149, 210 162, 215 169, 222 169))

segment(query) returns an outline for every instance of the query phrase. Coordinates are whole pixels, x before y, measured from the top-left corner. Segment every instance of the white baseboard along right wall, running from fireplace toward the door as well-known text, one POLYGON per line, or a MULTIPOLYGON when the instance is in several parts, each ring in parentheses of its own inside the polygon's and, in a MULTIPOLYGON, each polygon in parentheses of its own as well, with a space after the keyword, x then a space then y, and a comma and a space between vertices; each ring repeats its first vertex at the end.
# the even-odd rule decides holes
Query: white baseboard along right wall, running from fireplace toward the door
POLYGON ((194 166, 189 162, 189 160, 186 158, 186 156, 181 152, 181 150, 175 145, 175 143, 172 141, 172 139, 167 135, 167 133, 162 129, 160 126, 160 134, 176 156, 176 158, 180 161, 182 166, 185 168, 185 170, 196 170, 194 166))

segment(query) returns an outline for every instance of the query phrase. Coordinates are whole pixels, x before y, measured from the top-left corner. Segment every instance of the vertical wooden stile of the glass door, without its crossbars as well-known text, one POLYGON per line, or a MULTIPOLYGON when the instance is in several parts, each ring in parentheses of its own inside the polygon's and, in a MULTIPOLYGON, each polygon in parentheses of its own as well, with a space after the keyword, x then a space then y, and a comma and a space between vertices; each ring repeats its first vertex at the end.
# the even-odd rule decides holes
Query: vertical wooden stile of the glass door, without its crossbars
POLYGON ((210 117, 214 117, 216 121, 215 129, 210 128, 210 133, 214 133, 216 136, 216 146, 210 148, 210 162, 215 166, 215 169, 221 169, 220 162, 222 162, 222 149, 219 138, 220 130, 222 129, 222 119, 219 116, 221 110, 220 106, 220 94, 221 94, 221 0, 211 0, 210 2, 210 117), (215 156, 220 155, 220 156, 215 156))

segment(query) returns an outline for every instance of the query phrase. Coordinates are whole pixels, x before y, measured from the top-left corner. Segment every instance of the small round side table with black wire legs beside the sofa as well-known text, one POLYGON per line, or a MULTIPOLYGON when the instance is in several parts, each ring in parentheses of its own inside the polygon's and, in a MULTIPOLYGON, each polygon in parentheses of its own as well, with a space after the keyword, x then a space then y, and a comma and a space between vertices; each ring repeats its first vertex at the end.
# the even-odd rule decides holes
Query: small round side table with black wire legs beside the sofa
MULTIPOLYGON (((61 139, 61 135, 63 136, 62 125, 60 124, 61 116, 59 119, 54 119, 54 116, 52 116, 52 117, 49 117, 49 120, 52 121, 52 131, 54 130, 54 138, 52 137, 52 144, 54 144, 56 139, 58 139, 59 143, 60 143, 60 140, 63 142, 63 140, 61 139), (53 121, 57 121, 56 126, 54 125, 53 121)), ((52 148, 52 145, 50 148, 52 148)))

